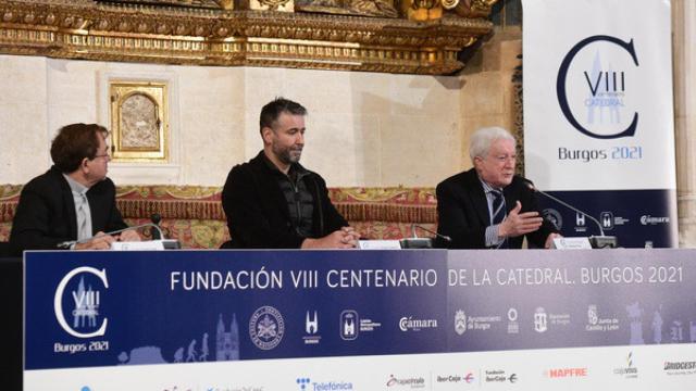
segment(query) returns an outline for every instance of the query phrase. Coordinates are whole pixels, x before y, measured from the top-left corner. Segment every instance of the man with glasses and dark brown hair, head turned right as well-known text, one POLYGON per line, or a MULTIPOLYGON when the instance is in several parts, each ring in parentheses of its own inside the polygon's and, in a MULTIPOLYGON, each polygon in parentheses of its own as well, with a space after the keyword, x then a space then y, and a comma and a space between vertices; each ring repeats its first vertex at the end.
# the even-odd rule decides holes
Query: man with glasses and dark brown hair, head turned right
POLYGON ((17 255, 24 250, 55 250, 72 240, 85 240, 72 245, 74 250, 104 250, 115 240, 140 240, 135 230, 104 235, 127 227, 116 209, 115 187, 107 178, 108 135, 97 124, 59 130, 51 143, 54 165, 22 189, 10 235, 17 255))

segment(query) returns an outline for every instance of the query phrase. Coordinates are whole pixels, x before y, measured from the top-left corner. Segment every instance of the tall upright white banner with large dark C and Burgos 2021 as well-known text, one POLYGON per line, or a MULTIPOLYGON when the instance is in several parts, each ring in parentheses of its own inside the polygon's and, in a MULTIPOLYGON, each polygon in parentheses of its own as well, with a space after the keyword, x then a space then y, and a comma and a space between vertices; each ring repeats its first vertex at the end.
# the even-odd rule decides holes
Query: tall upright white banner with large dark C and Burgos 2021
MULTIPOLYGON (((523 7, 526 176, 626 247, 676 245, 670 1, 523 7)), ((596 232, 546 206, 564 235, 596 232)))

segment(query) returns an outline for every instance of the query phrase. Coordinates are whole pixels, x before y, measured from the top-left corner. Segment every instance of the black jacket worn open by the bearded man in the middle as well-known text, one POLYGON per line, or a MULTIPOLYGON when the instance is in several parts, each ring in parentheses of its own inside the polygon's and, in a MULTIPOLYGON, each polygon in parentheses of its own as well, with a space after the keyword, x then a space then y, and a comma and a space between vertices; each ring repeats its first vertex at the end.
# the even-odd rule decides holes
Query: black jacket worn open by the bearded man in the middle
MULTIPOLYGON (((307 239, 295 230, 285 195, 264 160, 261 151, 248 163, 234 166, 227 175, 222 206, 227 215, 232 240, 222 248, 299 249, 307 239)), ((314 238, 348 226, 331 203, 324 179, 310 172, 302 180, 313 198, 314 238)))

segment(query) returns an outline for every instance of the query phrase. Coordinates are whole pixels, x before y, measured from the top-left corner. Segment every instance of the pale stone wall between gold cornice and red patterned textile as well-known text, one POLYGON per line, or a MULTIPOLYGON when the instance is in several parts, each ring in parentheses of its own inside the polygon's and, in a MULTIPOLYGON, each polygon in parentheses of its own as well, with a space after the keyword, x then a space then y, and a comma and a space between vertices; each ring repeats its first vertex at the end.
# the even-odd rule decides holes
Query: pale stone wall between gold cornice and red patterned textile
POLYGON ((459 169, 458 76, 260 67, 126 64, 0 55, 0 184, 24 184, 51 164, 58 128, 109 125, 104 79, 166 80, 171 160, 110 164, 120 185, 222 186, 262 148, 258 116, 277 96, 309 110, 302 163, 330 186, 433 187, 459 169))

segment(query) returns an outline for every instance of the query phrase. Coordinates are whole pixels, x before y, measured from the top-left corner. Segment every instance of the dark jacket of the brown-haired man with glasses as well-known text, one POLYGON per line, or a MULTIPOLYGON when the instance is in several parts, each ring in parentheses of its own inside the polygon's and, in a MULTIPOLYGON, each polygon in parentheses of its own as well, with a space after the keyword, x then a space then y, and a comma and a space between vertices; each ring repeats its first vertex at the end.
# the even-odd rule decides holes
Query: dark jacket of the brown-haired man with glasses
MULTIPOLYGON (((92 235, 127 227, 116 207, 116 190, 111 179, 87 191, 92 235)), ((32 179, 20 195, 10 242, 17 255, 24 250, 55 250, 58 244, 77 239, 77 216, 73 193, 63 174, 51 167, 32 179)))

